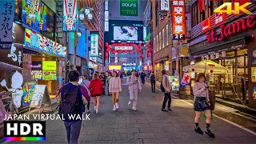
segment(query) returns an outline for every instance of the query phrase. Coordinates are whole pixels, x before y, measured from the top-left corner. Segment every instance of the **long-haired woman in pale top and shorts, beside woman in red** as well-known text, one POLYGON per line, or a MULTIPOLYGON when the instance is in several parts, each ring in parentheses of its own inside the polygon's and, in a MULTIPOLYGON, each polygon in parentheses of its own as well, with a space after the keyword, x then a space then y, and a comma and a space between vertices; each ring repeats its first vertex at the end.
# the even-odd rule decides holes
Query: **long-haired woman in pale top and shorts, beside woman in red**
POLYGON ((109 86, 110 93, 112 94, 112 102, 114 105, 113 110, 119 109, 118 101, 119 101, 119 94, 122 91, 121 86, 121 79, 118 77, 118 73, 116 71, 113 72, 113 78, 110 78, 110 86, 109 86))

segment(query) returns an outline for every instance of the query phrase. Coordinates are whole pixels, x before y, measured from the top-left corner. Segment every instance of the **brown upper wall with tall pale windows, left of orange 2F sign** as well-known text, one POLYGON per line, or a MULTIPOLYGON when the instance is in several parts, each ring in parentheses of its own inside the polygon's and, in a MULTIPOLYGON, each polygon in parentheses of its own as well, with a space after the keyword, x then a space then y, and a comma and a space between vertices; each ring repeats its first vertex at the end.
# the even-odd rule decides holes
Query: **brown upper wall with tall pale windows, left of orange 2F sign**
MULTIPOLYGON (((171 61, 171 49, 172 49, 171 27, 172 26, 171 26, 171 22, 169 22, 170 14, 167 14, 166 18, 161 22, 158 11, 156 10, 156 1, 151 0, 151 6, 152 6, 151 26, 153 31, 151 41, 153 41, 152 42, 153 43, 153 46, 152 46, 153 47, 153 66, 154 66, 154 70, 156 70, 157 63, 160 63, 160 66, 162 67, 161 70, 162 70, 164 68, 164 66, 162 65, 163 62, 158 62, 158 60, 162 58, 168 58, 166 61, 171 61), (168 27, 167 29, 166 29, 166 26, 168 27), (164 30, 164 33, 163 33, 164 36, 162 36, 162 30, 164 30), (161 32, 161 39, 159 37, 160 32, 161 32), (167 39, 168 39, 168 44, 167 44, 167 39)), ((160 2, 158 2, 157 9, 160 10, 160 2)), ((169 64, 168 73, 173 74, 172 62, 169 62, 169 63, 170 64, 169 64)), ((160 80, 161 80, 161 77, 158 78, 158 81, 160 80)))

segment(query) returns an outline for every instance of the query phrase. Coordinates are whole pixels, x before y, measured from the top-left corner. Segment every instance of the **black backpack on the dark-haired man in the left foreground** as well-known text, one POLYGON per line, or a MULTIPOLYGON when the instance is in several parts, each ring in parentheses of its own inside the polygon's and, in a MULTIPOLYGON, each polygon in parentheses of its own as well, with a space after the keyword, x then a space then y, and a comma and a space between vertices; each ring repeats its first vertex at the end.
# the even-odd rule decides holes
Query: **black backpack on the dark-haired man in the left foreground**
POLYGON ((76 86, 75 89, 70 90, 68 84, 62 87, 64 94, 61 97, 61 103, 59 104, 58 114, 65 118, 65 120, 73 120, 69 118, 69 115, 80 114, 81 106, 78 104, 78 90, 81 86, 76 86))

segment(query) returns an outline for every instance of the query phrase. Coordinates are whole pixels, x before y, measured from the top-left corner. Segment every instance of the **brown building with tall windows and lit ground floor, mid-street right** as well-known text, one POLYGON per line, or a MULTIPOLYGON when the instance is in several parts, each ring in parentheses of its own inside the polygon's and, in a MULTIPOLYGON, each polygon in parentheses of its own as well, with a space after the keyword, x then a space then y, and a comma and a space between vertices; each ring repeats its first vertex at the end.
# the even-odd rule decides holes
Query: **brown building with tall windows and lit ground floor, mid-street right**
POLYGON ((156 78, 161 82, 163 69, 168 74, 174 74, 175 63, 172 61, 172 25, 170 22, 170 13, 165 18, 159 16, 160 1, 151 0, 151 26, 152 26, 152 43, 153 43, 153 66, 156 78))

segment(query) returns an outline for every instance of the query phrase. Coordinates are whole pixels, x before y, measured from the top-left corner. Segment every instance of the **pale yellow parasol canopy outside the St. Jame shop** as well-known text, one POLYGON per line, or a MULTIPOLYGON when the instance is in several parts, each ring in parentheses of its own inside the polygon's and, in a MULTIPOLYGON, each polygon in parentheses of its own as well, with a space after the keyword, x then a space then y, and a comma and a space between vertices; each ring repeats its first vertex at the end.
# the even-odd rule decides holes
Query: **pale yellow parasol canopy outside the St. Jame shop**
POLYGON ((216 62, 205 60, 197 62, 193 65, 184 66, 182 69, 184 72, 206 73, 208 74, 226 74, 226 67, 219 65, 216 62))

